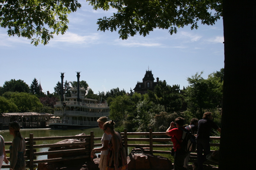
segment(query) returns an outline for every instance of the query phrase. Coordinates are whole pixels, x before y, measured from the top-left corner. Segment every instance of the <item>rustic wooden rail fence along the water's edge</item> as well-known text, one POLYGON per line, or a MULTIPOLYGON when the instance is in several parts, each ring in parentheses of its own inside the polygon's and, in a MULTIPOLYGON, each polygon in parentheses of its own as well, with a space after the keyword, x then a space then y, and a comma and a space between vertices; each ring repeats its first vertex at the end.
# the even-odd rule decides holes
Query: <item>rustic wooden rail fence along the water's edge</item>
MULTIPOLYGON (((165 132, 152 132, 152 129, 149 129, 149 132, 127 132, 127 129, 124 129, 124 132, 121 133, 121 136, 124 141, 125 151, 127 155, 128 155, 128 147, 143 147, 144 152, 149 154, 154 154, 154 153, 171 154, 170 149, 166 149, 166 151, 155 150, 155 148, 172 148, 173 145, 171 144, 171 138, 167 137, 165 132), (134 137, 128 138, 129 135, 138 135, 139 137, 146 136, 146 138, 134 138, 134 137), (144 141, 145 144, 131 144, 131 141, 135 141, 135 142, 144 141), (154 142, 160 142, 163 144, 154 144, 154 142)), ((220 137, 210 137, 210 138, 211 140, 220 140, 220 137)), ((65 137, 34 137, 33 134, 30 134, 28 138, 25 138, 26 167, 32 170, 34 167, 37 167, 37 164, 39 163, 59 162, 59 161, 65 161, 65 160, 85 159, 85 158, 91 159, 90 154, 92 152, 92 149, 94 147, 100 147, 102 145, 100 143, 100 140, 101 140, 101 137, 94 137, 93 131, 91 131, 90 135, 65 136, 65 137), (84 139, 84 142, 60 143, 60 144, 36 144, 36 141, 81 139, 81 138, 84 139), (39 148, 63 147, 63 146, 74 146, 74 145, 84 145, 84 148, 47 151, 47 152, 37 152, 36 150, 39 148), (66 154, 66 153, 76 153, 78 156, 64 157, 63 154, 66 154), (42 156, 42 155, 48 156, 52 154, 54 154, 55 157, 51 159, 40 159, 40 160, 36 159, 37 156, 42 156)), ((12 142, 5 142, 5 145, 11 145, 11 144, 12 142)), ((211 143, 210 145, 219 147, 220 144, 211 143)), ((6 153, 10 153, 10 150, 6 150, 6 153)), ((100 153, 100 152, 95 152, 95 153, 100 153)), ((196 153, 191 153, 189 162, 196 162, 196 153)), ((210 161, 206 162, 206 164, 216 165, 216 163, 210 162, 210 161)), ((9 165, 2 165, 2 168, 9 168, 9 167, 10 167, 9 165)))

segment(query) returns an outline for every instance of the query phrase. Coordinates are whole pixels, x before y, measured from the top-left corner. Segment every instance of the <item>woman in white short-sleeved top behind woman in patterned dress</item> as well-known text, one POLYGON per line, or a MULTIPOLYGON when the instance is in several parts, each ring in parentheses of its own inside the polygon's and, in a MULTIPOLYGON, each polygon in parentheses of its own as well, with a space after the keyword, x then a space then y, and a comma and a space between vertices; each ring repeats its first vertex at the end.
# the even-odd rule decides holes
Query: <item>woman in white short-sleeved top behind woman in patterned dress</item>
MULTIPOLYGON (((97 120, 97 122, 98 122, 99 128, 103 130, 103 124, 105 122, 108 122, 108 118, 106 116, 100 117, 97 120)), ((102 138, 101 138, 102 147, 92 149, 92 153, 91 153, 91 158, 92 159, 93 159, 95 151, 101 151, 100 152, 100 163, 99 163, 100 170, 105 170, 106 169, 107 155, 108 155, 108 142, 110 141, 111 137, 112 137, 111 135, 107 135, 106 133, 104 133, 102 138)))

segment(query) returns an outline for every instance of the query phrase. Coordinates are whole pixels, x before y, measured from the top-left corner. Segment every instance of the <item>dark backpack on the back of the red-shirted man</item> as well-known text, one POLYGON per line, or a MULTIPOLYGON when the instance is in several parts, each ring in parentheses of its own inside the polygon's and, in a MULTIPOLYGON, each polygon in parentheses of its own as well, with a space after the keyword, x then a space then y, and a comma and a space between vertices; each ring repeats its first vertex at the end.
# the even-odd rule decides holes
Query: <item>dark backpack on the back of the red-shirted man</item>
POLYGON ((183 131, 181 148, 186 152, 196 152, 196 137, 189 131, 179 129, 183 131))

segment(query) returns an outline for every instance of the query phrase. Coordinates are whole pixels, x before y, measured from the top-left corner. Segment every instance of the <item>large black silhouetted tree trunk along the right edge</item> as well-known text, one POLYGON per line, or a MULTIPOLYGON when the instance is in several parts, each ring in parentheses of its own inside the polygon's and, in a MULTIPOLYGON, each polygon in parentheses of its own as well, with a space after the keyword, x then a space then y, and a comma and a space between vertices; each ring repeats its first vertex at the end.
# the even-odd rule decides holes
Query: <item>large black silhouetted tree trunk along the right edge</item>
POLYGON ((223 0, 220 169, 255 168, 256 1, 223 0))

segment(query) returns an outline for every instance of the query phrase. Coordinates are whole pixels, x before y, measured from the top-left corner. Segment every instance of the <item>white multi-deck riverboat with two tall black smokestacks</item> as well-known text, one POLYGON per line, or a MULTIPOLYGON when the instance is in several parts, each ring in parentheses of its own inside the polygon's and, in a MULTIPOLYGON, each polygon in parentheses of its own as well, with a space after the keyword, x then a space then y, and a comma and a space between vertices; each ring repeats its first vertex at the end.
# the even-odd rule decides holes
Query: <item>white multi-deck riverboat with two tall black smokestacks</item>
MULTIPOLYGON (((77 72, 77 75, 79 73, 77 72)), ((54 105, 54 116, 49 123, 51 129, 93 128, 98 126, 97 120, 100 117, 108 117, 108 104, 102 104, 101 101, 97 103, 97 100, 94 99, 86 99, 86 89, 84 87, 79 88, 79 77, 77 76, 77 87, 70 89, 71 97, 66 97, 66 101, 57 101, 54 105)))

